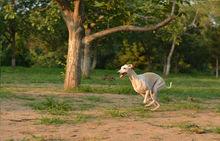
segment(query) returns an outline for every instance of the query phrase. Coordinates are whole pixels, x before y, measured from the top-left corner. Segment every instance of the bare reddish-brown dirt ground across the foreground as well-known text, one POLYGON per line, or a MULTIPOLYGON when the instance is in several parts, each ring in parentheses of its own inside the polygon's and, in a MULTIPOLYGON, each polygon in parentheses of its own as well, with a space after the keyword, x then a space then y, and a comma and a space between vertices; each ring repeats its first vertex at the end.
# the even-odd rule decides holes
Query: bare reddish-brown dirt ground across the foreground
MULTIPOLYGON (((108 96, 111 97, 111 94, 108 96)), ((41 137, 50 141, 220 141, 217 133, 197 134, 172 126, 192 122, 216 127, 220 125, 220 115, 215 112, 159 111, 140 120, 131 117, 105 118, 80 124, 43 125, 36 123, 42 114, 20 101, 4 100, 0 106, 1 141, 40 140, 41 137)))

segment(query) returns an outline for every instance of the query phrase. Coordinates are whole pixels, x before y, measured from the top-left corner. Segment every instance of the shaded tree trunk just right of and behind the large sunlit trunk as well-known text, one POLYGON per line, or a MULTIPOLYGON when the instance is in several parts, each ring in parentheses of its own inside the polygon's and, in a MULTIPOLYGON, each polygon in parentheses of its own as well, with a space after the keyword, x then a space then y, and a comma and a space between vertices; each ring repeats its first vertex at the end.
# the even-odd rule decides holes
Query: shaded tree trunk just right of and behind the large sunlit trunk
MULTIPOLYGON (((91 33, 91 29, 88 27, 86 35, 91 33)), ((89 78, 91 72, 91 45, 86 44, 83 50, 83 61, 82 61, 82 76, 83 78, 89 78)))

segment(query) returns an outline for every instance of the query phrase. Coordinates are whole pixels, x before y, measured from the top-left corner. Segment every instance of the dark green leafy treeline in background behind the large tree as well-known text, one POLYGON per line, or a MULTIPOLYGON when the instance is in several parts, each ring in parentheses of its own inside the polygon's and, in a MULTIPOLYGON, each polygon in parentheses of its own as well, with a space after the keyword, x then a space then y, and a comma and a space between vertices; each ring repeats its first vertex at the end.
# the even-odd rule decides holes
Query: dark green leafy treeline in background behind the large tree
MULTIPOLYGON (((64 67, 68 31, 56 3, 25 0, 0 2, 1 65, 64 67)), ((140 12, 124 16, 127 11, 120 2, 115 0, 115 4, 110 3, 108 8, 100 1, 87 2, 86 7, 91 9, 86 10, 89 20, 85 22, 85 29, 93 32, 134 20, 140 21, 136 24, 142 24, 143 18, 151 20, 152 17, 143 17, 140 12), (96 10, 97 7, 101 10, 96 10)), ((213 3, 208 4, 219 4, 213 3)), ((204 5, 207 3, 182 4, 178 17, 157 31, 114 33, 96 40, 91 44, 89 55, 91 68, 115 69, 122 64, 133 63, 137 68, 161 71, 167 75, 169 71, 217 75, 220 58, 219 13, 211 13, 210 7, 204 8, 204 5)), ((156 10, 149 13, 158 17, 165 11, 156 10)))

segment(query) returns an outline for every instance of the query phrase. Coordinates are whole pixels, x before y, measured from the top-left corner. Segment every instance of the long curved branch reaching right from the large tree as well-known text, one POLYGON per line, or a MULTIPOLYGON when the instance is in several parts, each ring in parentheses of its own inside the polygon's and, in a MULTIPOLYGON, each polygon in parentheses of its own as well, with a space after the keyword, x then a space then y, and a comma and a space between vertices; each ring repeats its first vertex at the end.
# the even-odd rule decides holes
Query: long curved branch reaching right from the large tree
POLYGON ((144 27, 132 26, 132 25, 117 26, 117 27, 109 28, 109 29, 85 36, 84 43, 90 44, 95 39, 107 36, 115 32, 122 32, 122 31, 123 32, 130 32, 130 31, 131 32, 147 32, 147 31, 157 30, 169 24, 175 18, 174 16, 175 5, 176 5, 176 0, 173 1, 173 6, 172 6, 170 16, 156 25, 150 25, 150 26, 144 26, 144 27))

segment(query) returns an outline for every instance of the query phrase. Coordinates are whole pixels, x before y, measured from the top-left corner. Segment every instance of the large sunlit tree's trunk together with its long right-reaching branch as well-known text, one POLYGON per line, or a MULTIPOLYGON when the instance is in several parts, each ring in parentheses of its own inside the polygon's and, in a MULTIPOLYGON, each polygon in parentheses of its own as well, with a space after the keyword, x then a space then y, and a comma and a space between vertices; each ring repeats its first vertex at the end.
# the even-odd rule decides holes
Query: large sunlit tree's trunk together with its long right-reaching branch
POLYGON ((146 32, 159 29, 167 25, 174 19, 175 1, 173 2, 171 14, 161 22, 150 26, 132 26, 122 25, 113 28, 107 28, 96 33, 85 35, 84 23, 85 23, 85 5, 84 0, 55 0, 63 15, 63 19, 66 23, 69 39, 68 39, 68 54, 65 73, 64 88, 71 89, 79 86, 81 76, 81 53, 84 45, 90 44, 92 41, 98 38, 102 38, 106 35, 122 32, 122 31, 135 31, 146 32))

